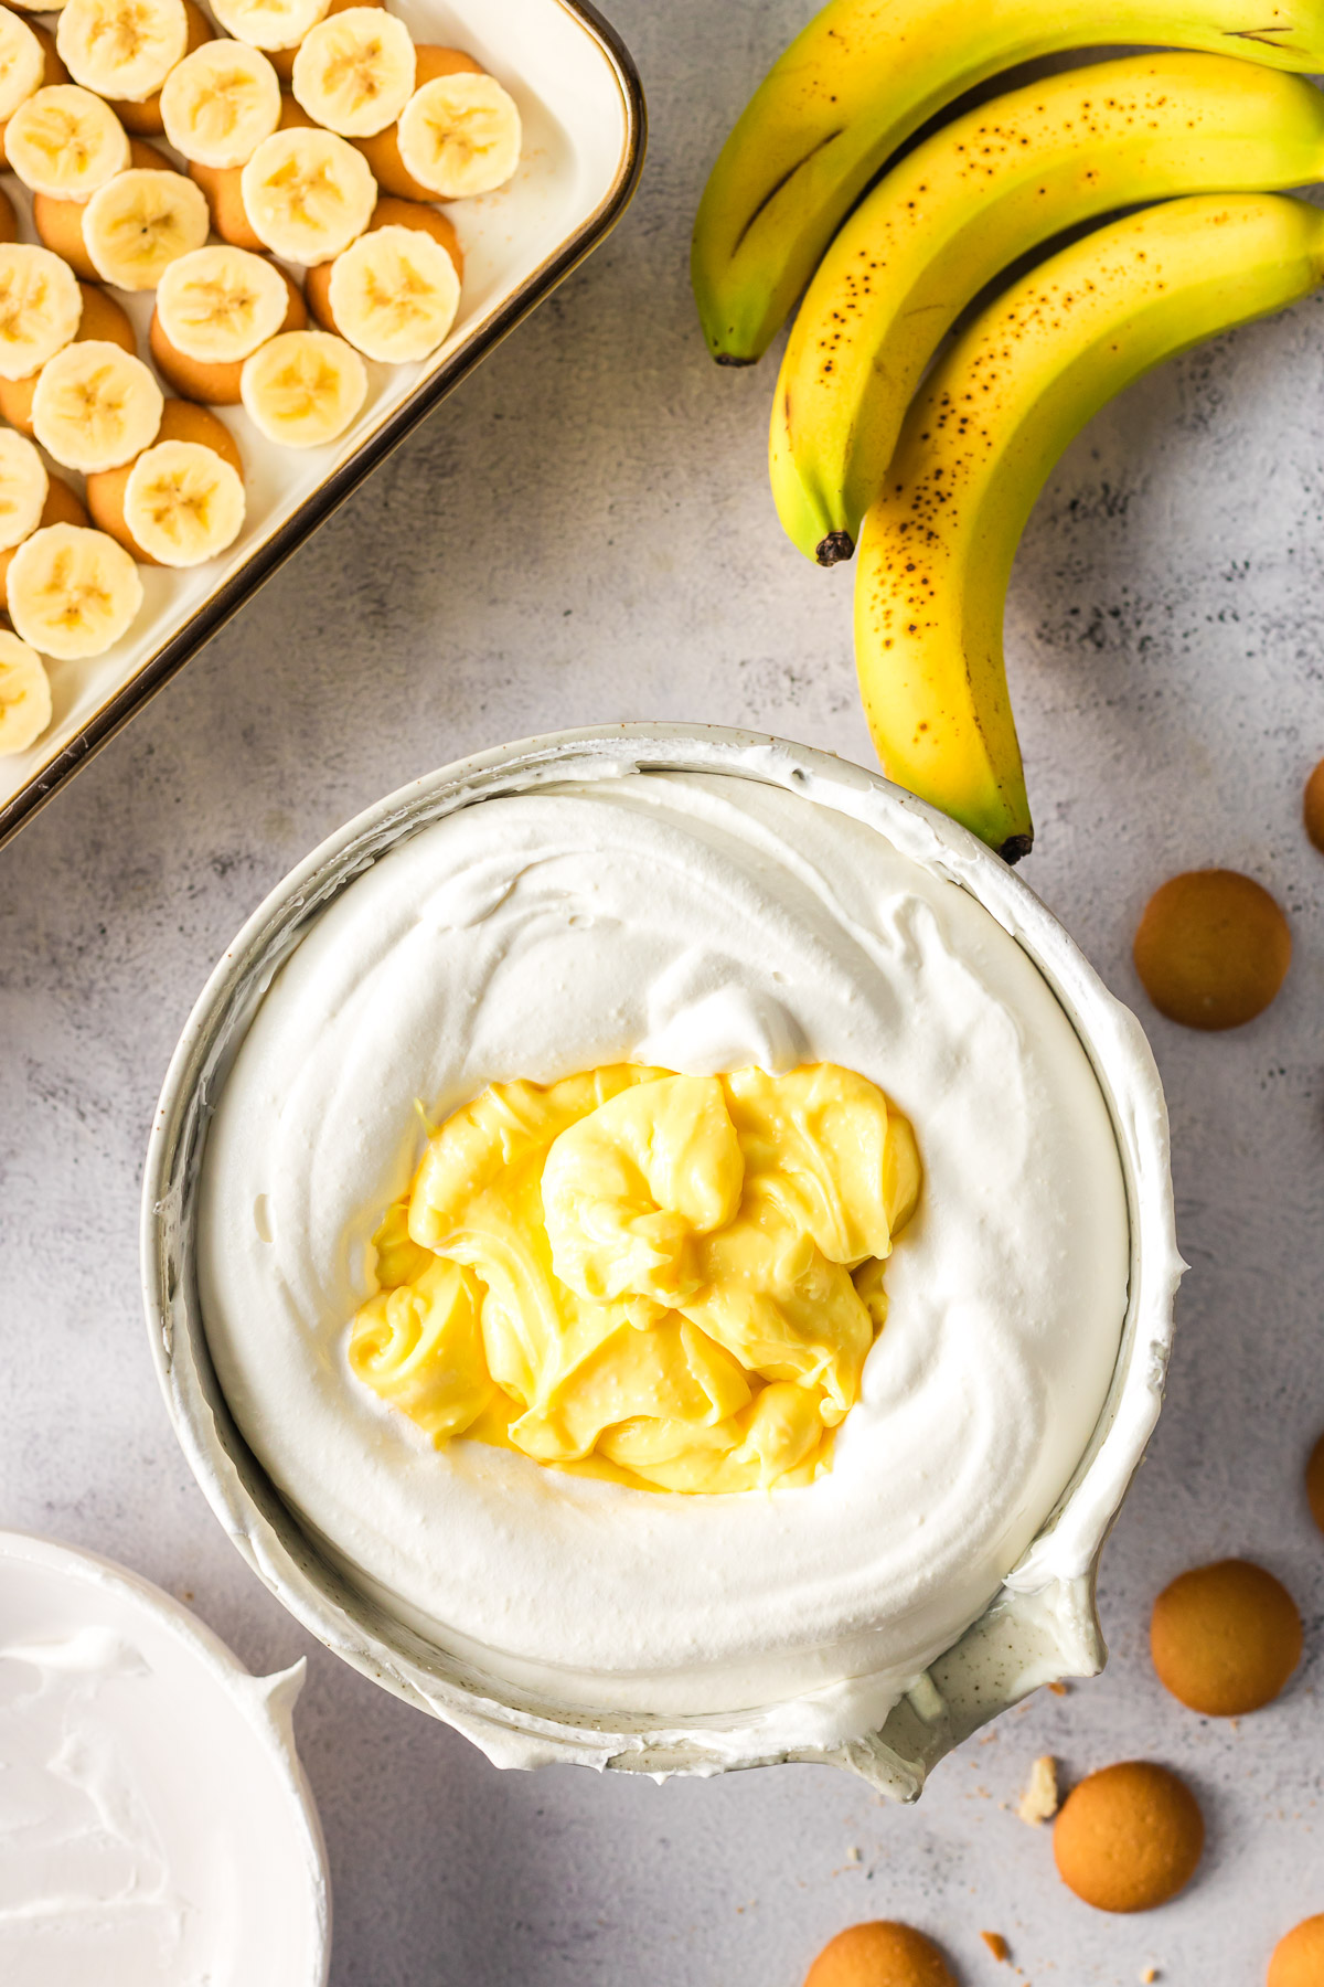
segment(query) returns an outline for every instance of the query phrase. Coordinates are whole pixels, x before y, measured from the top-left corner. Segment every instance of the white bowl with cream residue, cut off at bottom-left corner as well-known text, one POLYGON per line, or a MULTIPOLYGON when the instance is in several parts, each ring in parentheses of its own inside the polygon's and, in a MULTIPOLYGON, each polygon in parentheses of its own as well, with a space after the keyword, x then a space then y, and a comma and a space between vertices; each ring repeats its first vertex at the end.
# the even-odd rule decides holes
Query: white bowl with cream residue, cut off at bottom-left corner
POLYGON ((0 1534, 6 1987, 320 1987, 302 1675, 248 1677, 143 1582, 0 1534))

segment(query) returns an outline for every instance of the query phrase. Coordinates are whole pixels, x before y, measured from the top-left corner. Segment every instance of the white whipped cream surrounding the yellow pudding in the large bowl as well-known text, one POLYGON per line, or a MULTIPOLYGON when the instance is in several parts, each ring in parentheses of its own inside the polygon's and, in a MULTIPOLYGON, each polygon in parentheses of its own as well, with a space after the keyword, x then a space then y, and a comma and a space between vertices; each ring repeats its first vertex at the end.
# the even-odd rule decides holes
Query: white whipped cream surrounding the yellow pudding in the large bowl
MULTIPOLYGON (((1114 1373, 1127 1216, 1080 1041, 965 890, 834 809, 728 775, 482 801, 318 920, 224 1083, 199 1288, 236 1421, 359 1586, 552 1705, 840 1703, 863 1731, 985 1609, 1114 1373), (673 1496, 457 1441, 349 1375, 367 1238, 486 1083, 633 1057, 836 1061, 925 1166, 832 1472, 673 1496), (842 1689, 846 1685, 846 1689, 842 1689)), ((812 1717, 810 1717, 812 1723, 812 1717)))

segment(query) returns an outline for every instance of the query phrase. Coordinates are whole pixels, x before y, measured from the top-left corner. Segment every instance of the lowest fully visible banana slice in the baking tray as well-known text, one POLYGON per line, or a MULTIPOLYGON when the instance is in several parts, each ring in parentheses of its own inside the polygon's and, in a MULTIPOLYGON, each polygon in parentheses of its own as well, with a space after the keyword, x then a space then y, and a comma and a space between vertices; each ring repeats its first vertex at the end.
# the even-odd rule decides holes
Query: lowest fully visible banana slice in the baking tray
POLYGON ((137 566, 103 531, 46 525, 14 552, 10 620, 44 656, 103 656, 143 606, 137 566))

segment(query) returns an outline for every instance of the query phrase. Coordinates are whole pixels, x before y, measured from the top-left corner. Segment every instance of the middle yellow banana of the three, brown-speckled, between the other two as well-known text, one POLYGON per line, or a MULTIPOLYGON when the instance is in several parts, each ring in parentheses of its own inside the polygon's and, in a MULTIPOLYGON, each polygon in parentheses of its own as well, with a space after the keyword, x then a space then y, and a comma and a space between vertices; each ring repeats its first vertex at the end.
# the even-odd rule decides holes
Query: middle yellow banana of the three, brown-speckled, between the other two
POLYGON ((945 125, 846 221, 796 316, 770 475, 808 558, 850 558, 943 336, 1026 250, 1179 193, 1324 175, 1324 91, 1229 56, 1129 56, 1048 76, 945 125))

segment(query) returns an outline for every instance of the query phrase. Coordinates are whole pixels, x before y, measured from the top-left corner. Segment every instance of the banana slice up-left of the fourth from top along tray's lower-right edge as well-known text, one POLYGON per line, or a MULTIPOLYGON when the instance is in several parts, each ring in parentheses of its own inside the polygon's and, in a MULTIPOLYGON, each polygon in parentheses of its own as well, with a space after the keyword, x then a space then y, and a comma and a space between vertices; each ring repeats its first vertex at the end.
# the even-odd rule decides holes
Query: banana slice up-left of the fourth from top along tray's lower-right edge
POLYGON ((149 449, 165 395, 141 360, 103 338, 66 346, 42 368, 32 431, 64 469, 115 469, 149 449))

